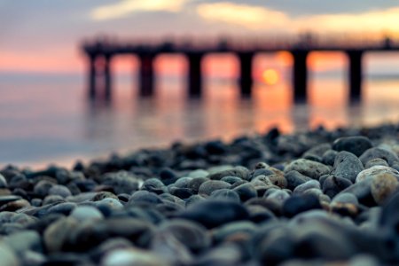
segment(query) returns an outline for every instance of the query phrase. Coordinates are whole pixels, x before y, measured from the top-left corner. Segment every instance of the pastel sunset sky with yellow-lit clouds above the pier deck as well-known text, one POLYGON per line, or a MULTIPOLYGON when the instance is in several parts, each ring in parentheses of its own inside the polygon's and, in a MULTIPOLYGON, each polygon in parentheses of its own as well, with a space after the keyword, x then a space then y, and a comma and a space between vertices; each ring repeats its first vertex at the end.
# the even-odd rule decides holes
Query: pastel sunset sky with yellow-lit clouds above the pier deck
POLYGON ((392 0, 0 0, 0 72, 82 73, 86 37, 399 36, 392 0))

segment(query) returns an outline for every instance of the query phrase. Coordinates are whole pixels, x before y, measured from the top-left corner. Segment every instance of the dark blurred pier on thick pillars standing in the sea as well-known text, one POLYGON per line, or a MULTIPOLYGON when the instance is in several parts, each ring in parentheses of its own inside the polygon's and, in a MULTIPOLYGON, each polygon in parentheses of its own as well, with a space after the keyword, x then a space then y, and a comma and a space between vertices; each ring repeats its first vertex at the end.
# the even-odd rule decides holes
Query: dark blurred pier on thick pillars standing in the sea
POLYGON ((305 101, 308 88, 307 58, 312 51, 340 51, 348 56, 348 96, 358 100, 362 95, 363 66, 362 59, 369 51, 399 51, 399 44, 386 38, 377 41, 362 40, 280 40, 251 43, 246 40, 219 42, 117 42, 105 38, 85 42, 82 51, 89 61, 89 96, 98 97, 98 89, 102 88, 105 98, 112 95, 111 61, 116 56, 136 55, 139 59, 140 95, 149 97, 154 91, 154 59, 160 54, 184 54, 188 62, 187 90, 191 97, 200 97, 202 90, 201 61, 209 53, 229 52, 239 59, 239 88, 243 97, 249 97, 252 91, 253 59, 257 53, 273 53, 288 51, 293 56, 293 99, 305 101))

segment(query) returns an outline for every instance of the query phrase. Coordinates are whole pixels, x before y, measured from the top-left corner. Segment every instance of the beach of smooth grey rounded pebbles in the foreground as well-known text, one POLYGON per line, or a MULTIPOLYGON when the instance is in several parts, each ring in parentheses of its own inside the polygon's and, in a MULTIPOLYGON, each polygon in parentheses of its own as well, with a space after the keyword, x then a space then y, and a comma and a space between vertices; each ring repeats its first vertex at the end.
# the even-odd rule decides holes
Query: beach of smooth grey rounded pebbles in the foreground
POLYGON ((0 264, 399 264, 399 125, 0 170, 0 264))

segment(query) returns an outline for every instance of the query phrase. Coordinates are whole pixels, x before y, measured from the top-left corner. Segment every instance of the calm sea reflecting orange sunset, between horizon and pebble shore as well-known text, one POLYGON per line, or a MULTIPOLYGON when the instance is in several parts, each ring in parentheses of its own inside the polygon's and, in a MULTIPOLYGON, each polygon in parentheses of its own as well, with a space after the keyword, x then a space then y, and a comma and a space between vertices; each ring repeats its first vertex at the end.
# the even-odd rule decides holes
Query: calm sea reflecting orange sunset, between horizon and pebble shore
POLYGON ((343 71, 311 73, 308 104, 295 105, 285 67, 278 68, 275 84, 257 78, 250 99, 239 97, 229 75, 207 75, 201 99, 186 97, 184 74, 159 74, 153 98, 139 98, 135 78, 120 75, 109 103, 87 100, 83 74, 0 75, 0 166, 71 166, 74 160, 113 152, 168 146, 176 140, 228 141, 272 127, 292 132, 399 121, 395 73, 382 75, 379 67, 368 71, 356 105, 348 102, 343 71))

